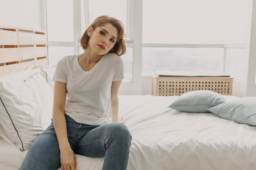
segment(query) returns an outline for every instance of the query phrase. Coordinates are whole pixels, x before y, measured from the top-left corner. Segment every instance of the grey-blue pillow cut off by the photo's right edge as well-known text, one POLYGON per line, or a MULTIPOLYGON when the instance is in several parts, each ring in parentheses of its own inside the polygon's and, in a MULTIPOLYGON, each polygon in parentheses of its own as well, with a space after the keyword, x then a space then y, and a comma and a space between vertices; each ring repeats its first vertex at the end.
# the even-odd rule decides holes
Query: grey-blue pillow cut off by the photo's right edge
POLYGON ((256 126, 256 97, 243 97, 208 110, 223 119, 256 126))

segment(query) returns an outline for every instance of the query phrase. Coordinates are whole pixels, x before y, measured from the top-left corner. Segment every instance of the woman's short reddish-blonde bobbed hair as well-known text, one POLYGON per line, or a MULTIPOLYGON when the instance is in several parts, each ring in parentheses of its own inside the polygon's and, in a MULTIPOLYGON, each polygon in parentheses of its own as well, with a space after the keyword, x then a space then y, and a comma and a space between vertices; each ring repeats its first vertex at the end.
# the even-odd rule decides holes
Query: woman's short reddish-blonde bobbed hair
MULTIPOLYGON (((126 53, 126 46, 124 41, 124 24, 120 20, 117 20, 116 18, 110 17, 108 15, 101 15, 92 22, 91 26, 94 31, 98 26, 104 26, 107 23, 112 24, 114 27, 117 28, 118 31, 117 42, 115 43, 114 47, 109 51, 109 53, 115 53, 119 56, 124 55, 126 53)), ((80 39, 81 47, 84 50, 87 48, 89 40, 90 37, 86 29, 80 39)))

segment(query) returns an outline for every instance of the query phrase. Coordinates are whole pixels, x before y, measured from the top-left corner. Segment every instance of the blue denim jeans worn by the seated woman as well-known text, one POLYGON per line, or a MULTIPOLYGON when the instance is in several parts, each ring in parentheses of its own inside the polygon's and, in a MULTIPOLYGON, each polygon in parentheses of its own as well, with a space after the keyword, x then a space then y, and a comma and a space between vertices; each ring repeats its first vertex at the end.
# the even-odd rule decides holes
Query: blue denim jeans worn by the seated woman
MULTIPOLYGON (((67 137, 75 154, 105 157, 102 170, 126 170, 132 136, 124 124, 80 124, 68 115, 67 137)), ((90 165, 88 165, 90 166, 90 165)), ((60 150, 53 123, 30 146, 19 170, 57 170, 60 150)))

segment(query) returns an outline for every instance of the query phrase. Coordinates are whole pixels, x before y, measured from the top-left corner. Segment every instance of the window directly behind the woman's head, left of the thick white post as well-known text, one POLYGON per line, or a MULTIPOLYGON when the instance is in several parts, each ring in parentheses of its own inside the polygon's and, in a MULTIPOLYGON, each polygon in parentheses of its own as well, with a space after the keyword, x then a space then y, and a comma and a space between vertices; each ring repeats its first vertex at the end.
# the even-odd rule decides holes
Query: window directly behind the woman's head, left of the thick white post
MULTIPOLYGON (((49 65, 56 65, 66 55, 83 53, 79 42, 81 35, 100 15, 110 15, 121 20, 126 36, 131 35, 131 0, 45 0, 45 4, 49 65)), ((133 44, 128 44, 126 48, 126 54, 121 56, 125 66, 123 82, 133 83, 133 44)))

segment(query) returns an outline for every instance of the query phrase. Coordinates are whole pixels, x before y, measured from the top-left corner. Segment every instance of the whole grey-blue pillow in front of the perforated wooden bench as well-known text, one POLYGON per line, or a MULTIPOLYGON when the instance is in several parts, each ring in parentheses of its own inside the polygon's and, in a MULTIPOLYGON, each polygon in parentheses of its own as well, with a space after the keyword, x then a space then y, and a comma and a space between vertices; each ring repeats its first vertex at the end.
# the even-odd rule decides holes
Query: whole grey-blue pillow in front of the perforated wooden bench
POLYGON ((180 95, 170 106, 182 112, 209 113, 207 108, 225 103, 226 99, 219 93, 207 90, 189 91, 180 95))

